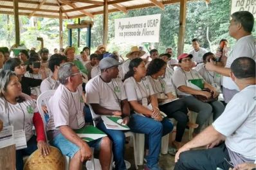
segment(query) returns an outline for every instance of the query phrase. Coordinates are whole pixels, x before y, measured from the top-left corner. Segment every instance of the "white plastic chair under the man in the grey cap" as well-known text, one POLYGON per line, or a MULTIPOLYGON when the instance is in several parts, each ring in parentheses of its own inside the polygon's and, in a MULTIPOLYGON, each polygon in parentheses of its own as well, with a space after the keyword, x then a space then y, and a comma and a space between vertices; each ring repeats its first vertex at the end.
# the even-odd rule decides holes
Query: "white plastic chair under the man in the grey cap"
MULTIPOLYGON (((90 111, 91 111, 91 116, 93 117, 93 125, 96 126, 96 124, 98 123, 98 121, 100 120, 100 115, 97 115, 95 114, 95 112, 93 111, 93 108, 91 105, 88 105, 89 108, 90 108, 90 111)), ((135 142, 135 136, 134 136, 134 133, 133 132, 124 132, 125 134, 125 137, 131 137, 132 140, 133 140, 133 152, 134 152, 134 163, 135 163, 135 167, 136 169, 138 169, 138 163, 137 163, 137 160, 138 160, 138 153, 136 152, 136 142, 135 142)), ((113 159, 113 157, 112 157, 113 159)), ((112 166, 112 164, 111 164, 112 166)), ((112 167, 111 167, 112 169, 112 167)))

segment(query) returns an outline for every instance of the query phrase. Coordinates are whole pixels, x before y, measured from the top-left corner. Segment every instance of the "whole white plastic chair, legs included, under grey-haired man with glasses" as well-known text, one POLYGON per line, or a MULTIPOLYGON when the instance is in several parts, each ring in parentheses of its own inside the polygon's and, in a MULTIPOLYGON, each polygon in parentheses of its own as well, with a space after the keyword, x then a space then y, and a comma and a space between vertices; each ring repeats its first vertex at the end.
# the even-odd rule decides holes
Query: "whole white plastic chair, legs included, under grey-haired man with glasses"
MULTIPOLYGON (((39 113, 41 114, 42 122, 44 123, 44 133, 45 133, 47 142, 48 142, 47 135, 46 135, 46 124, 47 123, 46 123, 46 120, 44 117, 44 111, 42 110, 42 105, 46 105, 46 107, 48 108, 48 112, 51 112, 50 107, 48 105, 48 101, 51 98, 51 96, 53 96, 54 93, 55 93, 55 90, 47 90, 46 92, 42 92, 42 94, 40 94, 39 97, 37 98, 37 108, 39 110, 39 113)), ((91 151, 92 151, 91 164, 92 164, 93 170, 95 170, 94 157, 93 157, 94 149, 91 148, 91 151)), ((65 170, 69 170, 70 158, 66 155, 64 155, 64 158, 65 158, 65 170)))

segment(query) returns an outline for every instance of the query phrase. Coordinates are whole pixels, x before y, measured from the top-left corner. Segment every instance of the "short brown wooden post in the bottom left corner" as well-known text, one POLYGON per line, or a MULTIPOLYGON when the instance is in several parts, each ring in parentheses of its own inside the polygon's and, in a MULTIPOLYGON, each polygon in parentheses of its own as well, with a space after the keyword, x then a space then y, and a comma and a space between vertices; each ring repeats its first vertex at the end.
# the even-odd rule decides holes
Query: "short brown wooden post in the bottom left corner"
POLYGON ((16 148, 15 144, 0 149, 0 167, 1 169, 15 170, 16 148))

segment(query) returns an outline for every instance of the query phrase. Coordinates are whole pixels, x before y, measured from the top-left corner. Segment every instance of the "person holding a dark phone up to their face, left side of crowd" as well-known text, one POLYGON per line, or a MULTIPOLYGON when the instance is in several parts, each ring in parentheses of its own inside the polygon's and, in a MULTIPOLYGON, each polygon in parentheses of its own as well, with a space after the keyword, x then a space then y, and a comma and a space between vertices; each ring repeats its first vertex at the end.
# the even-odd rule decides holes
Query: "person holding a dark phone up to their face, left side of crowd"
MULTIPOLYGON (((26 67, 26 73, 24 74, 27 78, 34 78, 44 80, 46 75, 46 68, 41 65, 39 58, 28 58, 28 66, 26 67)), ((41 94, 40 85, 37 87, 30 87, 31 94, 35 96, 35 99, 41 94)))

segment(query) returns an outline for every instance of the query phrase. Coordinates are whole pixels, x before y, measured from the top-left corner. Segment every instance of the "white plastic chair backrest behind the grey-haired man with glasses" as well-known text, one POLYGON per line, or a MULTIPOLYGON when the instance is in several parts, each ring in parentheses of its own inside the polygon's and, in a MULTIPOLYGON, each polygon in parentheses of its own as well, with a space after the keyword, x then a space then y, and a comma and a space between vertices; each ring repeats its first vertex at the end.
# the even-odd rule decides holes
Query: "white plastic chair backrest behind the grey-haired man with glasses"
MULTIPOLYGON (((54 93, 55 93, 55 90, 47 90, 45 92, 42 92, 37 98, 37 108, 39 110, 39 113, 41 114, 42 122, 44 123, 44 132, 45 133, 46 133, 46 124, 47 123, 44 118, 44 111, 42 110, 42 105, 46 105, 46 107, 48 108, 48 112, 50 112, 50 108, 48 106, 48 101, 51 98, 51 96, 53 96, 54 93)), ((46 135, 46 138, 47 138, 47 135, 46 135)))

